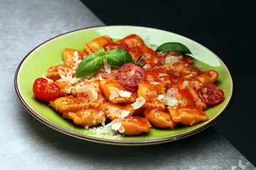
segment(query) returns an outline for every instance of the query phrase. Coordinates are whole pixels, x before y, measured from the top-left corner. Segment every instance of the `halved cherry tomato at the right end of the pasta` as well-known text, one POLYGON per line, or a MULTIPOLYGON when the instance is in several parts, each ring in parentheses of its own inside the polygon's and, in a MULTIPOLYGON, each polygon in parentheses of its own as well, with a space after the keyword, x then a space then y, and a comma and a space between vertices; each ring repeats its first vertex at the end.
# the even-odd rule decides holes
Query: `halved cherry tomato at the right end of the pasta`
POLYGON ((209 105, 214 105, 223 100, 224 92, 218 89, 215 84, 205 84, 197 91, 203 102, 209 105))

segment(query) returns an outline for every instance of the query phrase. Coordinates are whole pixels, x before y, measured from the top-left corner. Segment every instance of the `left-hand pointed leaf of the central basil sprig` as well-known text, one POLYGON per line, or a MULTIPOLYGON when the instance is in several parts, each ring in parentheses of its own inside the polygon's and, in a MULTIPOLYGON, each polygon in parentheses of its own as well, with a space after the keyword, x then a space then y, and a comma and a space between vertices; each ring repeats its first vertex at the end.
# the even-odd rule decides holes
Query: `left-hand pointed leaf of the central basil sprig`
POLYGON ((97 72, 103 67, 103 60, 99 53, 91 53, 87 55, 82 62, 78 65, 78 69, 75 71, 75 77, 87 77, 97 72))

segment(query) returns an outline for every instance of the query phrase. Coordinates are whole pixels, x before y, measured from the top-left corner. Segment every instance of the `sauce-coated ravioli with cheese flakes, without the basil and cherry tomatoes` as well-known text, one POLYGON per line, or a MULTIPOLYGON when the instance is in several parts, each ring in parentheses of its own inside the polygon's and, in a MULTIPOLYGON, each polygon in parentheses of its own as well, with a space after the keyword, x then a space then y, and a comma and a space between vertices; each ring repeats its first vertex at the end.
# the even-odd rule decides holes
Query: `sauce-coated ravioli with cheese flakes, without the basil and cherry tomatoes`
POLYGON ((66 47, 63 63, 50 67, 46 74, 60 87, 60 97, 48 106, 85 128, 102 125, 129 136, 150 132, 151 126, 171 130, 208 120, 207 105, 197 91, 204 84, 214 84, 218 72, 201 72, 183 52, 156 52, 146 44, 136 34, 117 41, 103 35, 87 42, 82 50, 66 47), (107 61, 97 74, 75 77, 78 64, 87 55, 113 42, 128 46, 134 61, 144 58, 144 81, 135 89, 124 86, 117 77, 119 68, 107 61))

